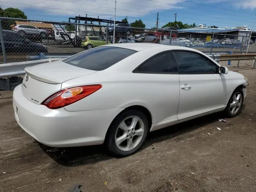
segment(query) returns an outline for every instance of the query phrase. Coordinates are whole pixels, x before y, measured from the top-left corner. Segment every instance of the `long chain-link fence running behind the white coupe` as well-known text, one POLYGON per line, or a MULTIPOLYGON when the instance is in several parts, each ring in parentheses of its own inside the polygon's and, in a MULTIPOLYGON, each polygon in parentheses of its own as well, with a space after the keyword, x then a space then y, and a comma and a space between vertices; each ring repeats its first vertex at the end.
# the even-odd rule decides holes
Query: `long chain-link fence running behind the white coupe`
MULTIPOLYGON (((183 46, 206 54, 256 52, 256 37, 221 33, 131 28, 116 24, 96 25, 0 18, 0 64, 66 58, 84 50, 113 43, 155 43, 183 46)), ((249 35, 248 35, 249 34, 249 35)), ((230 62, 221 63, 231 65, 230 62)), ((0 78, 0 90, 12 90, 23 76, 0 78)))

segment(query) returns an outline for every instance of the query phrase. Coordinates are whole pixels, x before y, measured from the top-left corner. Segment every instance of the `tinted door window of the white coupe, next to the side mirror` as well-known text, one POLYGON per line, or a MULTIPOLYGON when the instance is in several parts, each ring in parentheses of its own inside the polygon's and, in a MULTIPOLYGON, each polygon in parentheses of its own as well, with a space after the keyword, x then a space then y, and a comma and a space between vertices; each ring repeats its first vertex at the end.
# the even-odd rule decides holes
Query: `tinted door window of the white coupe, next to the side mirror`
POLYGON ((208 74, 217 73, 217 66, 206 57, 188 51, 173 51, 180 74, 208 74))

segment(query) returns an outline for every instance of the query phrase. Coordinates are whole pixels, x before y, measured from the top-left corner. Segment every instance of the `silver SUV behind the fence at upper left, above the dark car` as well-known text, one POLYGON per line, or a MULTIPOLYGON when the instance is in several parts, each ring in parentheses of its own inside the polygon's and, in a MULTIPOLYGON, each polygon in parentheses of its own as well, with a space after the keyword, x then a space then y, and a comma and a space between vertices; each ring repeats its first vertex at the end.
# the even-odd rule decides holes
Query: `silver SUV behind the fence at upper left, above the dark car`
POLYGON ((16 25, 13 28, 14 32, 24 36, 24 35, 40 35, 41 37, 46 37, 46 30, 38 29, 32 25, 16 25))

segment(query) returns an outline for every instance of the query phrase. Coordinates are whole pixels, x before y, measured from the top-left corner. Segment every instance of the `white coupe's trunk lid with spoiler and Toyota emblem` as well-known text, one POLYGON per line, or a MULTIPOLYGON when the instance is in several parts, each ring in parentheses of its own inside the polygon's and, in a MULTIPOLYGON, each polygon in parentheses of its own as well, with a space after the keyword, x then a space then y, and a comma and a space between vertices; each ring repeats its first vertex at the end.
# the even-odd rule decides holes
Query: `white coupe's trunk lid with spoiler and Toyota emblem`
POLYGON ((79 68, 61 60, 25 68, 22 93, 31 102, 41 104, 46 98, 61 90, 62 82, 96 71, 79 68))

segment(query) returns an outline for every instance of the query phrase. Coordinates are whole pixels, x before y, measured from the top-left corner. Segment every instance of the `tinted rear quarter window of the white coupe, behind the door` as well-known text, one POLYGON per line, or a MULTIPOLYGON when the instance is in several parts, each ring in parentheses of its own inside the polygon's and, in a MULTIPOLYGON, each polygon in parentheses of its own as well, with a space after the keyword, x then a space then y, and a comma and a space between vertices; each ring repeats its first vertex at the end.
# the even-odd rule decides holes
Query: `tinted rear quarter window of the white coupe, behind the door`
POLYGON ((160 53, 150 58, 135 72, 138 73, 178 73, 178 67, 172 52, 160 53))

